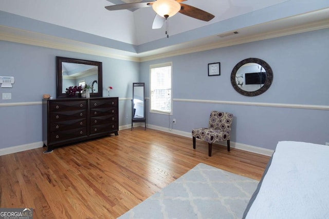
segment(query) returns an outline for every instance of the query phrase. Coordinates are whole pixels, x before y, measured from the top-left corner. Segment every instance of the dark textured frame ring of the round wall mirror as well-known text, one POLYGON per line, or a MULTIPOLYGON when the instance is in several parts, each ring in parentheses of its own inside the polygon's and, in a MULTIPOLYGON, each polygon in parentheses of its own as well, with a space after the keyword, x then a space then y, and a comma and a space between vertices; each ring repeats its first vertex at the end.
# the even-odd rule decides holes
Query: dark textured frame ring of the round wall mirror
POLYGON ((241 62, 237 63, 234 66, 232 73, 231 73, 231 84, 232 84, 234 90, 236 90, 237 92, 239 92, 240 94, 245 95, 245 96, 257 96, 257 95, 264 93, 271 86, 272 81, 273 81, 273 72, 272 72, 271 67, 264 60, 262 60, 260 58, 246 58, 246 59, 242 60, 241 62), (235 80, 236 72, 239 70, 239 68, 241 68, 243 65, 248 64, 248 63, 257 63, 257 64, 263 66, 263 68, 266 71, 266 80, 265 80, 264 85, 260 89, 255 90, 255 91, 245 91, 236 84, 236 80, 235 80))

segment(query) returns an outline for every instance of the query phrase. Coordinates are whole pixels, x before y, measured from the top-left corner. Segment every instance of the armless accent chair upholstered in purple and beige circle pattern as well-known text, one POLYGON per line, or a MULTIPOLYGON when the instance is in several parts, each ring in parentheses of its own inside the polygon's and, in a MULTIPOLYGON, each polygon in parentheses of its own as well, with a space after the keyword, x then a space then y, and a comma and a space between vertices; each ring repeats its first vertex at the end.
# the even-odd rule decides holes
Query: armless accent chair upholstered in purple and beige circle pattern
POLYGON ((230 134, 233 114, 227 112, 212 111, 208 128, 192 129, 193 148, 195 138, 208 142, 208 155, 211 156, 212 143, 227 141, 227 150, 230 151, 230 134))

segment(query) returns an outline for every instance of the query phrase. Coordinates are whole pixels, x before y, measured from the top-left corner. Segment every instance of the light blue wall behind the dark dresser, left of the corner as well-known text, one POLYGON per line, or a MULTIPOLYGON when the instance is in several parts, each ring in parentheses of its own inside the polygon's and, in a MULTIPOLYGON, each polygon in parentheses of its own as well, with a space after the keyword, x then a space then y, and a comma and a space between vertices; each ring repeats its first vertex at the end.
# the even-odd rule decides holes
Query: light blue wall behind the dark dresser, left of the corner
MULTIPOLYGON (((0 98, 0 149, 42 141, 42 95, 56 97, 56 56, 72 57, 103 63, 103 96, 112 86, 111 96, 118 96, 119 125, 131 124, 132 84, 138 82, 139 63, 102 56, 87 55, 25 44, 0 41, 2 76, 14 76, 12 88, 0 88, 11 93, 10 100, 0 98), (31 105, 33 102, 36 105, 31 105), (6 104, 23 103, 23 106, 6 104)), ((1 95, 2 97, 2 95, 1 95)))

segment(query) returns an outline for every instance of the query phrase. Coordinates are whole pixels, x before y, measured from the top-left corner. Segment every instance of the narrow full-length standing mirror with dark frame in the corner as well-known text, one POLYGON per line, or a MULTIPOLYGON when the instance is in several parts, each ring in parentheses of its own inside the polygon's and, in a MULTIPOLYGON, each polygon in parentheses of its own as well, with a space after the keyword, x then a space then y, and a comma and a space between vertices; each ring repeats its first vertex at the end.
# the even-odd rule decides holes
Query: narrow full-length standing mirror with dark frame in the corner
POLYGON ((132 127, 133 123, 144 122, 146 129, 145 118, 145 84, 133 83, 133 99, 132 99, 132 127))

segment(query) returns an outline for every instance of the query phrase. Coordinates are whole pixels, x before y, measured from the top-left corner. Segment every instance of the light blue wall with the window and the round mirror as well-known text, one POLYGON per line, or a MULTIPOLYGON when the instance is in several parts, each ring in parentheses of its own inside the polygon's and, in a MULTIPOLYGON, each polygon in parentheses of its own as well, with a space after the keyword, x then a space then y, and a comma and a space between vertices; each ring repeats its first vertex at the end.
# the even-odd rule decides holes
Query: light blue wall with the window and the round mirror
MULTIPOLYGON (((329 29, 163 58, 141 64, 149 84, 149 66, 173 62, 173 129, 190 132, 208 126, 211 110, 234 114, 231 141, 274 150, 278 141, 329 142, 329 111, 285 108, 284 104, 329 106, 329 29), (249 97, 230 82, 233 67, 249 57, 266 61, 273 82, 265 93, 249 97), (221 62, 221 75, 208 76, 208 63, 221 62), (175 101, 176 100, 176 101, 175 101), (232 101, 247 105, 202 103, 232 101), (256 103, 281 107, 253 106, 256 103)), ((150 88, 147 87, 147 96, 150 88)), ((169 127, 169 115, 148 113, 148 123, 169 127)))

